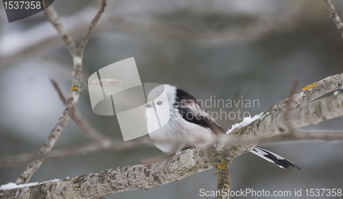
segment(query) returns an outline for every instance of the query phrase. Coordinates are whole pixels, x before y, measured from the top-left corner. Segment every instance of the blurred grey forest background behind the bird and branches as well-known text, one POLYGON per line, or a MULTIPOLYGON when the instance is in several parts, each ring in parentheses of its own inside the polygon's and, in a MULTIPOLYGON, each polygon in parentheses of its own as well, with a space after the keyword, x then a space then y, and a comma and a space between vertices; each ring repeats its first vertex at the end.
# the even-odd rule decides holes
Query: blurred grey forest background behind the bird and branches
MULTIPOLYGON (((79 43, 99 3, 58 0, 53 5, 79 43)), ((343 1, 332 3, 343 16, 343 1)), ((73 64, 43 12, 8 23, 3 5, 0 7, 3 157, 36 152, 43 145, 64 109, 49 79, 56 80, 67 95, 73 64)), ((211 96, 259 100, 255 108, 222 109, 226 113, 237 113, 239 109, 257 115, 284 100, 294 80, 302 88, 342 73, 343 40, 335 23, 324 16, 328 13, 322 0, 109 0, 84 52, 84 79, 106 65, 134 57, 142 82, 178 86, 202 100, 211 96)), ((122 140, 116 117, 93 113, 87 88, 77 107, 99 132, 122 140)), ((239 119, 217 122, 228 129, 239 119)), ((338 118, 303 130, 342 127, 342 118, 338 118)), ((55 148, 86 143, 90 141, 70 121, 55 148)), ((301 170, 280 169, 253 154, 244 154, 230 167, 232 190, 289 190, 289 198, 299 198, 294 197, 294 189, 303 189, 305 194, 305 189, 311 188, 343 188, 342 143, 303 141, 262 146, 296 163, 301 170)), ((30 182, 137 165, 161 154, 156 148, 143 148, 47 160, 30 182)), ((0 185, 14 182, 25 167, 0 167, 0 185)), ((150 190, 126 191, 105 198, 192 199, 200 198, 200 189, 217 189, 213 169, 150 190)))

